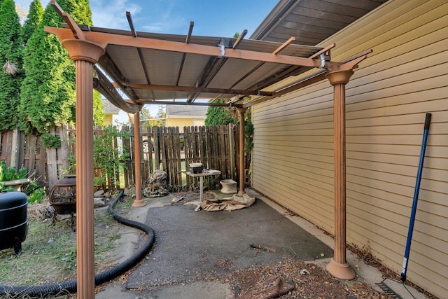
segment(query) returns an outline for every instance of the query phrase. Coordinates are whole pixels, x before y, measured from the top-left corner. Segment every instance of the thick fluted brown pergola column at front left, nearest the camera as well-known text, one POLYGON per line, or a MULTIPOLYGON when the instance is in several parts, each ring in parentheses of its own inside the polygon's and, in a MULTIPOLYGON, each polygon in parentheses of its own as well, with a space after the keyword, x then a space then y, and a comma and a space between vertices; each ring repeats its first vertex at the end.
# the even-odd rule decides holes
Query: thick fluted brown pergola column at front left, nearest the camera
POLYGON ((93 65, 104 54, 96 43, 62 41, 76 66, 76 248, 78 298, 94 298, 93 65))

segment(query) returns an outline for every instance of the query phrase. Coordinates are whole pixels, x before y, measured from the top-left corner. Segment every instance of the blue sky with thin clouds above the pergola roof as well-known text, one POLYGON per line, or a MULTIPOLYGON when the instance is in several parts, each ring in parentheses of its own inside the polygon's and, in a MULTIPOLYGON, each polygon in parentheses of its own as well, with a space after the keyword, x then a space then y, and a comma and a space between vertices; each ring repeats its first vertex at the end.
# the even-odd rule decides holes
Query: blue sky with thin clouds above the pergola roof
MULTIPOLYGON (((15 0, 29 10, 31 0, 15 0)), ((43 8, 50 1, 41 0, 43 8)), ((130 11, 137 32, 187 34, 190 21, 193 35, 232 37, 248 30, 246 39, 276 6, 278 0, 90 0, 94 27, 130 30, 126 11, 130 11)), ((155 116, 158 107, 145 106, 155 116)), ((118 121, 127 122, 123 111, 118 121)))

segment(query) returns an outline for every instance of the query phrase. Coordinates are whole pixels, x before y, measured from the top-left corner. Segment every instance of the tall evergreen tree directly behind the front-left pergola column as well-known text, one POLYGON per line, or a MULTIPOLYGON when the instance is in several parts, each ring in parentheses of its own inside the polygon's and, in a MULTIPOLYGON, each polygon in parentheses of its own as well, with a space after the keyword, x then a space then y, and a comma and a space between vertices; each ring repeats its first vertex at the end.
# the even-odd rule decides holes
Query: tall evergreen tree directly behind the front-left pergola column
MULTIPOLYGON (((76 23, 92 25, 88 0, 59 0, 58 4, 76 23)), ((74 63, 57 36, 43 30, 44 26, 61 27, 62 22, 62 18, 48 4, 42 22, 25 47, 26 78, 20 99, 21 130, 43 134, 52 125, 75 120, 74 63)))

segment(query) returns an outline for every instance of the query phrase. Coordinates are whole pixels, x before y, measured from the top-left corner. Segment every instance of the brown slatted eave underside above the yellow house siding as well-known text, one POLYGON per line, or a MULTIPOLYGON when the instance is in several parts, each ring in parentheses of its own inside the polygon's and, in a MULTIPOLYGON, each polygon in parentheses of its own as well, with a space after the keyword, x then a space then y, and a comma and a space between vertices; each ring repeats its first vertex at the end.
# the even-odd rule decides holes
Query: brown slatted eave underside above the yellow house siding
POLYGON ((281 0, 251 39, 315 46, 387 0, 281 0))

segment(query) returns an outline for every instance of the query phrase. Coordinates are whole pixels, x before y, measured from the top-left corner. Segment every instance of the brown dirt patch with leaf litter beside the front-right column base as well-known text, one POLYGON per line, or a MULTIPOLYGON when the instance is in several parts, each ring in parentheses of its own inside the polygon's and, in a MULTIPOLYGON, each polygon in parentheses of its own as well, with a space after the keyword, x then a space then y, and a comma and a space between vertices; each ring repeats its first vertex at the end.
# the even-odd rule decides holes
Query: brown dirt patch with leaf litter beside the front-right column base
POLYGON ((339 281, 313 263, 289 260, 238 270, 224 278, 235 298, 389 298, 363 282, 339 281))

